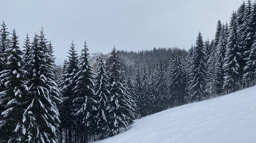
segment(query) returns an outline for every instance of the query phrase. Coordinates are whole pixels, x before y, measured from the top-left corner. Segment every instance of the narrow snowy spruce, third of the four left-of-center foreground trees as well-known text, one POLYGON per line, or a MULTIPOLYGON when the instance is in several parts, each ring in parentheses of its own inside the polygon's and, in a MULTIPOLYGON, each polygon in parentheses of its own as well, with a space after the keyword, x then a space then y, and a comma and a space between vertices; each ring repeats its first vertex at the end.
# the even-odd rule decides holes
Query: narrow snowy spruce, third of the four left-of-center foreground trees
POLYGON ((105 62, 100 57, 99 63, 97 65, 96 76, 95 76, 95 94, 97 98, 97 130, 100 136, 100 139, 103 139, 104 133, 106 131, 107 119, 109 107, 109 91, 108 91, 108 76, 106 76, 106 66, 105 62))

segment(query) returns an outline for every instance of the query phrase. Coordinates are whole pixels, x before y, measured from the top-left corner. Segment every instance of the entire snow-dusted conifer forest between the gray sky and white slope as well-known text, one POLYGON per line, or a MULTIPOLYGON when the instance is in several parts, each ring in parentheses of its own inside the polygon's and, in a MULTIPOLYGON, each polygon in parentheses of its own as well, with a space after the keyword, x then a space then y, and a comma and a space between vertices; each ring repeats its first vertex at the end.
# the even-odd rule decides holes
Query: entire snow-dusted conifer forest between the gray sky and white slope
POLYGON ((212 33, 208 40, 199 32, 189 50, 114 46, 93 56, 90 41, 81 51, 72 41, 58 74, 54 41, 43 28, 19 42, 3 22, 0 142, 104 139, 130 129, 135 119, 254 85, 256 3, 244 2, 212 33))

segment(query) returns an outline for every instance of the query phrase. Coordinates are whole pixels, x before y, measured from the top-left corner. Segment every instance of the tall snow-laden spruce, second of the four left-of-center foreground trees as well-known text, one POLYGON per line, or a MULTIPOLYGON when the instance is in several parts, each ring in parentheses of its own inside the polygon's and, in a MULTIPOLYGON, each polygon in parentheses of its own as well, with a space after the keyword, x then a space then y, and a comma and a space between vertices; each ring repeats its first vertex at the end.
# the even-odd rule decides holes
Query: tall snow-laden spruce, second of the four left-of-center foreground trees
MULTIPOLYGON (((90 54, 86 42, 82 49, 79 68, 76 73, 76 86, 73 89, 75 98, 73 100, 72 114, 76 117, 76 122, 81 125, 81 132, 84 132, 84 142, 87 142, 88 132, 93 124, 93 113, 96 110, 96 100, 94 93, 94 72, 89 63, 90 54)), ((83 139, 81 137, 81 139, 83 139)), ((83 140, 81 140, 83 142, 83 140)))

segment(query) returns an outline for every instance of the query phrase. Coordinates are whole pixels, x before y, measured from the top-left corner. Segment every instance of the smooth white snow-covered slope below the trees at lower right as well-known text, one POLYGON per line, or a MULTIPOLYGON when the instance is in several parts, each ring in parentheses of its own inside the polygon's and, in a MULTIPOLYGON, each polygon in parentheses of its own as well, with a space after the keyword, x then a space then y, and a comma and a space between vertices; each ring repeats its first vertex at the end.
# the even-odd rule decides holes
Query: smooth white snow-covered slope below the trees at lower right
POLYGON ((255 143, 256 86, 137 120, 97 143, 255 143))

